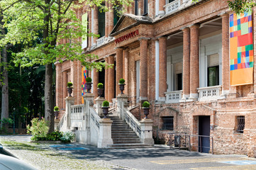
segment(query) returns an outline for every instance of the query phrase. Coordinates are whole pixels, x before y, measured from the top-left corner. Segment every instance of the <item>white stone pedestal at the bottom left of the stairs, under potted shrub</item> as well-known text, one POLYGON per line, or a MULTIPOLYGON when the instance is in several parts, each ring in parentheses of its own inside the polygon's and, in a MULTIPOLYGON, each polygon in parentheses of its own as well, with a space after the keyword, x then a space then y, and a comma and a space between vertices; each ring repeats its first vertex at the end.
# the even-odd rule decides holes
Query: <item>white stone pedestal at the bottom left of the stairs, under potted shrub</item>
POLYGON ((98 147, 104 148, 108 145, 113 145, 111 137, 111 125, 113 121, 109 118, 103 118, 99 121, 99 140, 98 147))

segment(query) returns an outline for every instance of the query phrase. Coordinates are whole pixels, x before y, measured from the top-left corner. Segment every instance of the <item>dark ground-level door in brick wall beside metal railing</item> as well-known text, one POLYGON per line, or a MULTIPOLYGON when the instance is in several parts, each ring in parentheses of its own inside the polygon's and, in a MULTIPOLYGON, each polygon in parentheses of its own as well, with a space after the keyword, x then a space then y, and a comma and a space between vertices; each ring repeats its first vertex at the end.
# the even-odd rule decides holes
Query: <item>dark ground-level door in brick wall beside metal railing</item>
MULTIPOLYGON (((199 135, 210 136, 210 116, 199 116, 199 135)), ((208 153, 210 150, 210 138, 199 137, 199 152, 208 153)))

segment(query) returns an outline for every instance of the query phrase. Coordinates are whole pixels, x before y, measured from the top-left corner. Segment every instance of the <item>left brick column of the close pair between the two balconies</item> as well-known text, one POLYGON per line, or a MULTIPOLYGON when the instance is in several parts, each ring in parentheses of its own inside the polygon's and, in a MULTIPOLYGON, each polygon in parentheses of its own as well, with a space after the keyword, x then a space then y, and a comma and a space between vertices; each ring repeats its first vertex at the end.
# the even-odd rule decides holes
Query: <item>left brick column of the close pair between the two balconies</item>
POLYGON ((186 101, 190 96, 190 30, 183 30, 183 96, 182 101, 186 101))

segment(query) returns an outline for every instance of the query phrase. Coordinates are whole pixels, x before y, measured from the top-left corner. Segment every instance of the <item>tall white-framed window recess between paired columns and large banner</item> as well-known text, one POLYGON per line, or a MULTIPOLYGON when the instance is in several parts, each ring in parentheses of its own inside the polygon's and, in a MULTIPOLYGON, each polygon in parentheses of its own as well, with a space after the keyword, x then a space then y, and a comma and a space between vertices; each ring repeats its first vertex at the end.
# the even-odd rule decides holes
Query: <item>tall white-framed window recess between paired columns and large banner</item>
POLYGON ((221 35, 200 40, 200 87, 221 85, 221 35))

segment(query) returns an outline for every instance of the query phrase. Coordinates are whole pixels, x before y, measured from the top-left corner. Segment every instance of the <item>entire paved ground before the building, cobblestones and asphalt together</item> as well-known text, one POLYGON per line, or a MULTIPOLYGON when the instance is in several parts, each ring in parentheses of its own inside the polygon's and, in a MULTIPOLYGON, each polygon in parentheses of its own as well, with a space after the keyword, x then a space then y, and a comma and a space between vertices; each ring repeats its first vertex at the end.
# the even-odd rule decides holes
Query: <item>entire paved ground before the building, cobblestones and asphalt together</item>
MULTIPOLYGON (((0 141, 3 139, 28 141, 17 136, 1 136, 0 141)), ((38 169, 256 169, 256 159, 243 155, 201 154, 165 145, 144 149, 99 149, 77 143, 35 146, 40 149, 38 153, 10 146, 6 149, 38 169)))

